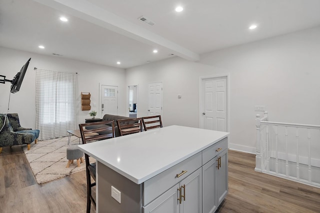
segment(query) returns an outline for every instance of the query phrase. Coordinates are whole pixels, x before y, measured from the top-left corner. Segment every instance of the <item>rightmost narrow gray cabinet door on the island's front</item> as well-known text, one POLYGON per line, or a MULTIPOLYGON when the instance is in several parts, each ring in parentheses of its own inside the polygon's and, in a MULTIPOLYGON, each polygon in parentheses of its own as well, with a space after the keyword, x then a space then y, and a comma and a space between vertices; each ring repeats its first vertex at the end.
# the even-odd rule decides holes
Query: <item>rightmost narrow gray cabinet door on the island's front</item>
POLYGON ((218 205, 221 204, 225 196, 228 194, 228 150, 225 149, 220 155, 217 156, 220 158, 220 167, 217 169, 217 198, 218 205))

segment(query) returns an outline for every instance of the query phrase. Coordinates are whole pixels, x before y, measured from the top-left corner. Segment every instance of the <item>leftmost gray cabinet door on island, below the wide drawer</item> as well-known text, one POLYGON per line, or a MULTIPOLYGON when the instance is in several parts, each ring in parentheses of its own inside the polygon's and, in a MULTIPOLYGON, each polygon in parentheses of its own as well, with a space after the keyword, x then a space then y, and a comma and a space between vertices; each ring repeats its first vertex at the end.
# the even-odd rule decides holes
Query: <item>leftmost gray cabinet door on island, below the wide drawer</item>
POLYGON ((142 208, 143 213, 179 213, 180 204, 177 200, 179 184, 174 185, 150 204, 142 208))

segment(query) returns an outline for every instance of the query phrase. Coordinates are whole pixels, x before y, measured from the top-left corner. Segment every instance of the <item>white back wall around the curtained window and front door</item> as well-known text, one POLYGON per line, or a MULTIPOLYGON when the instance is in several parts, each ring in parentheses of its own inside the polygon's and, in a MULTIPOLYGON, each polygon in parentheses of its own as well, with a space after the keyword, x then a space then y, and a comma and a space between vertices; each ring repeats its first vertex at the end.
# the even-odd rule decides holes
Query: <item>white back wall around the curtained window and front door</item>
MULTIPOLYGON (((31 57, 20 91, 10 97, 10 112, 18 113, 21 126, 35 128, 35 70, 38 69, 77 72, 77 123, 84 123, 90 118, 89 111, 81 111, 81 92, 90 92, 91 110, 98 112, 99 83, 118 86, 118 114, 125 115, 126 86, 124 69, 97 65, 59 56, 46 56, 30 52, 0 47, 0 75, 12 80, 22 65, 31 57), (95 102, 96 106, 92 106, 95 102)), ((6 113, 10 83, 0 84, 0 113, 6 113)), ((103 115, 97 114, 96 117, 103 115)))

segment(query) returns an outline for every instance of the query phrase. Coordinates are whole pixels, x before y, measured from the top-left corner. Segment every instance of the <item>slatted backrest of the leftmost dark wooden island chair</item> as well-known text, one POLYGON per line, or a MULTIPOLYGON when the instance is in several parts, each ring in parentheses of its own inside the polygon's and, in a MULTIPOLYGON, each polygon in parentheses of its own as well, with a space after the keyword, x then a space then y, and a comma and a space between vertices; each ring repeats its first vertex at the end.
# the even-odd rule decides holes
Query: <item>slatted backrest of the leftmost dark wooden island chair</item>
POLYGON ((114 121, 79 124, 82 144, 93 140, 114 138, 114 121), (89 127, 86 129, 86 127, 89 127))

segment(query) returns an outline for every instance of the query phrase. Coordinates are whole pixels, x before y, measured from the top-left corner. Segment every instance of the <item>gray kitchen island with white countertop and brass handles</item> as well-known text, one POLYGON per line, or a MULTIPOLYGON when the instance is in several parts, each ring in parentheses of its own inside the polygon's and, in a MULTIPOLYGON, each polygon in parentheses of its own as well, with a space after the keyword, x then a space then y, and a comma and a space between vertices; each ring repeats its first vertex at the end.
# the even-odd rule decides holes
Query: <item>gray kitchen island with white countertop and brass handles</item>
POLYGON ((228 134, 169 126, 79 145, 97 161, 96 211, 215 211, 227 194, 228 134))

